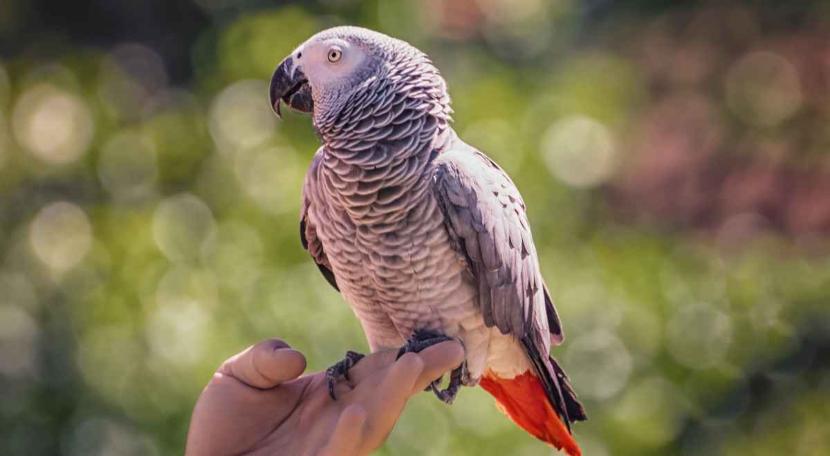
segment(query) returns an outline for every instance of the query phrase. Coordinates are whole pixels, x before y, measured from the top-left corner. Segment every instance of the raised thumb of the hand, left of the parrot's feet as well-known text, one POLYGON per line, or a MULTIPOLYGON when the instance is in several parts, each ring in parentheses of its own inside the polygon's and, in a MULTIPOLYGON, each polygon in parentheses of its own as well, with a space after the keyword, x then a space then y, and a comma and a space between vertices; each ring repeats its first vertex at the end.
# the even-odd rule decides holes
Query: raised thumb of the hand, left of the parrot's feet
POLYGON ((264 390, 294 380, 305 371, 305 364, 302 353, 291 349, 286 342, 270 339, 231 357, 219 372, 264 390))

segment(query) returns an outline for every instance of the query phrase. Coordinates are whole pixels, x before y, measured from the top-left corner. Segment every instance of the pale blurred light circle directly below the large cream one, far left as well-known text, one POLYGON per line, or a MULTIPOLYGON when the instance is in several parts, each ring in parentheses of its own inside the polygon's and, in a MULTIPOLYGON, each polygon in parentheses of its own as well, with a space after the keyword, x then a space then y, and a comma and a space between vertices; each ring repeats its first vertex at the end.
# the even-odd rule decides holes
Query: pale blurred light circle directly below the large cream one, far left
POLYGON ((29 228, 29 242, 39 260, 61 272, 84 259, 92 245, 92 227, 80 207, 58 201, 37 213, 29 228))

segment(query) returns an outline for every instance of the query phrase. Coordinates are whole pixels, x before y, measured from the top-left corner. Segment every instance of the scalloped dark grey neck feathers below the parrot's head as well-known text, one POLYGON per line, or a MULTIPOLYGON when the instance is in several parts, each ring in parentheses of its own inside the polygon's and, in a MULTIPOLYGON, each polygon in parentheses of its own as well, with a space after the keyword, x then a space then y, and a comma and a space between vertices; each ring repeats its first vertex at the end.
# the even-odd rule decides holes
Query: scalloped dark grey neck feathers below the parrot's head
POLYGON ((405 217, 429 191, 432 159, 456 138, 446 85, 428 66, 367 81, 336 121, 316 125, 327 190, 356 224, 405 217))

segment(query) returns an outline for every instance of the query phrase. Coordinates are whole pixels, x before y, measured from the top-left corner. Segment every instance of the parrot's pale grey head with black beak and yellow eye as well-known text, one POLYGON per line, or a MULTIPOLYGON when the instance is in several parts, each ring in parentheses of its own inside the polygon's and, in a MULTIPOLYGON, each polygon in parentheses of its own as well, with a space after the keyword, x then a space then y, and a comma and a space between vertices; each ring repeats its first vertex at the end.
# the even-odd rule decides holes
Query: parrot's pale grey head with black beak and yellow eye
POLYGON ((311 36, 277 66, 271 107, 279 116, 282 101, 313 114, 320 127, 350 104, 376 103, 404 83, 412 90, 413 82, 416 89, 432 89, 433 96, 436 87, 446 90, 432 62, 406 41, 361 27, 334 27, 311 36))

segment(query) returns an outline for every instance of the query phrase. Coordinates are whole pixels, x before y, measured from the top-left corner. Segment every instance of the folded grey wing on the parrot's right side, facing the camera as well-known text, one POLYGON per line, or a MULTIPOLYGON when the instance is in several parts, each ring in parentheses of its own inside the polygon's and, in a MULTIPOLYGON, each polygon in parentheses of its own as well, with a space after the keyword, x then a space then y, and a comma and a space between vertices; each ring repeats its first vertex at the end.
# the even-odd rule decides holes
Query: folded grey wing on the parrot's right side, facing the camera
MULTIPOLYGON (((525 203, 510 177, 461 141, 435 165, 433 191, 476 277, 486 325, 532 339, 549 333, 549 342, 559 345, 562 324, 542 279, 525 203)), ((540 352, 549 348, 548 341, 540 342, 540 352)))

